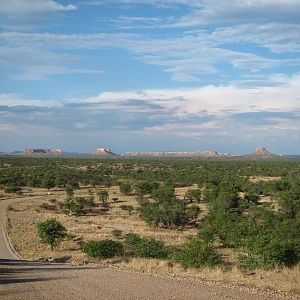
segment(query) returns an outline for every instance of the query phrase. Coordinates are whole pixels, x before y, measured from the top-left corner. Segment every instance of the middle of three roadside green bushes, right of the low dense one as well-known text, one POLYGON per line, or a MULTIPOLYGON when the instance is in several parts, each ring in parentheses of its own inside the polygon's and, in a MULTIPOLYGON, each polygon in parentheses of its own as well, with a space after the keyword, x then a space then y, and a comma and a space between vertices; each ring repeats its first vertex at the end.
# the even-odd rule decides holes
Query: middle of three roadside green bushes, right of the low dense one
POLYGON ((134 233, 126 235, 125 245, 133 256, 137 257, 164 259, 169 255, 168 249, 163 241, 140 237, 134 233))

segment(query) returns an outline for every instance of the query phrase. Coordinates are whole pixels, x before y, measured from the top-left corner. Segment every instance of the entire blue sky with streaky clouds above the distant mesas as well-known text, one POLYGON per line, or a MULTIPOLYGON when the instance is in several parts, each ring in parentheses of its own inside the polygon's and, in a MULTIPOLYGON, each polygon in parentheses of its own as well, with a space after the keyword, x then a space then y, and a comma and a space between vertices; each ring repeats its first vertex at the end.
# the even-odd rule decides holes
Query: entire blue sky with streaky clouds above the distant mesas
POLYGON ((300 0, 0 0, 0 151, 300 154, 300 0))

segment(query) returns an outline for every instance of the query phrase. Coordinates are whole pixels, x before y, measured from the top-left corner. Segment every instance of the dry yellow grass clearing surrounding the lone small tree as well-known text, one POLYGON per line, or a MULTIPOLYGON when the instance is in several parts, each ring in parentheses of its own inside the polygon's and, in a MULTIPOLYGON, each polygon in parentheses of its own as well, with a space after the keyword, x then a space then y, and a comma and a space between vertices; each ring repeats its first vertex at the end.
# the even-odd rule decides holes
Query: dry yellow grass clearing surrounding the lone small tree
MULTIPOLYGON (((86 260, 79 250, 78 243, 74 242, 73 239, 64 241, 53 253, 49 251, 47 246, 39 242, 36 235, 36 224, 47 218, 57 219, 68 229, 70 236, 74 238, 82 237, 84 240, 112 239, 114 238, 112 230, 118 229, 123 232, 123 235, 134 232, 142 236, 163 240, 168 245, 180 245, 187 238, 197 234, 196 228, 170 230, 149 227, 141 220, 136 211, 138 205, 135 197, 120 194, 118 187, 109 189, 110 199, 118 198, 119 200, 117 202, 109 201, 110 208, 107 213, 99 214, 99 211, 95 211, 85 216, 69 215, 59 209, 59 204, 62 204, 65 200, 63 191, 51 191, 51 194, 47 195, 47 190, 36 189, 34 194, 40 195, 42 193, 44 193, 44 197, 41 199, 13 204, 8 211, 12 224, 10 229, 11 239, 24 258, 38 259, 49 256, 65 256, 70 255, 69 249, 74 249, 71 250, 72 259, 76 258, 79 262, 86 260), (132 205, 135 211, 129 214, 121 209, 122 205, 132 205)), ((88 196, 88 188, 76 191, 75 196, 88 196)), ((96 197, 95 201, 98 202, 96 197)))

